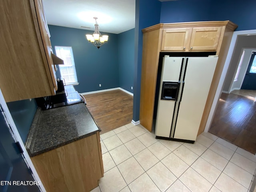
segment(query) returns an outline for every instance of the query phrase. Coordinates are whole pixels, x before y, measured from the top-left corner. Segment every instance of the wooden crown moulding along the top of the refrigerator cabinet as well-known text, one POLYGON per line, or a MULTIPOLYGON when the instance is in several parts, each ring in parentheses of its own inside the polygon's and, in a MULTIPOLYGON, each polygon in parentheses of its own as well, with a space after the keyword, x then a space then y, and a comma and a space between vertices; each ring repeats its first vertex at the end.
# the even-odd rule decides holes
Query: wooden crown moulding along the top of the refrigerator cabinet
POLYGON ((226 20, 226 21, 202 21, 202 22, 184 22, 184 23, 160 23, 154 26, 150 26, 148 28, 142 29, 142 32, 150 32, 152 30, 160 29, 160 28, 184 28, 184 27, 208 27, 208 26, 227 26, 231 30, 235 30, 237 25, 233 22, 226 20))

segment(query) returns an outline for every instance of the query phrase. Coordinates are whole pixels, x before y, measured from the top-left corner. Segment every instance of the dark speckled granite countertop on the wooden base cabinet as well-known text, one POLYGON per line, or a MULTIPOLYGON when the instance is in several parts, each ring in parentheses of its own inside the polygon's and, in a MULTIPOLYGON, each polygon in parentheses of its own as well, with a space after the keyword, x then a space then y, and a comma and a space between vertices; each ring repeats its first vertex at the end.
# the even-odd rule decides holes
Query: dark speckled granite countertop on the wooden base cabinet
POLYGON ((50 110, 38 108, 25 145, 32 157, 98 131, 101 130, 84 103, 50 110))

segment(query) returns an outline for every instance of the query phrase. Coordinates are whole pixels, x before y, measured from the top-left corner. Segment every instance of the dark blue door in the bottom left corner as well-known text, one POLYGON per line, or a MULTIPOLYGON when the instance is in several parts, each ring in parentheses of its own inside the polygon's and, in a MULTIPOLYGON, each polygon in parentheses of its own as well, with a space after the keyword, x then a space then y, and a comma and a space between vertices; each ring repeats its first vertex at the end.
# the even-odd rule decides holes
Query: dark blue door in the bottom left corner
POLYGON ((0 192, 39 192, 39 182, 34 181, 2 110, 0 106, 0 192))

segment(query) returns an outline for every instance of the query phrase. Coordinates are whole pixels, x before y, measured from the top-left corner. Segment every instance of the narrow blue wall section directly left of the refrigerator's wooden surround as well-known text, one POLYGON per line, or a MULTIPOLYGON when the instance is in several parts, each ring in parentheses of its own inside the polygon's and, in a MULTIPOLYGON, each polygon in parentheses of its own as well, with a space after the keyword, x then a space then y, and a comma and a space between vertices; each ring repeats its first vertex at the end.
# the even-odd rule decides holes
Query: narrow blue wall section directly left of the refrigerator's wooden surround
POLYGON ((133 120, 140 119, 140 80, 142 64, 142 29, 160 22, 161 2, 136 0, 133 120))

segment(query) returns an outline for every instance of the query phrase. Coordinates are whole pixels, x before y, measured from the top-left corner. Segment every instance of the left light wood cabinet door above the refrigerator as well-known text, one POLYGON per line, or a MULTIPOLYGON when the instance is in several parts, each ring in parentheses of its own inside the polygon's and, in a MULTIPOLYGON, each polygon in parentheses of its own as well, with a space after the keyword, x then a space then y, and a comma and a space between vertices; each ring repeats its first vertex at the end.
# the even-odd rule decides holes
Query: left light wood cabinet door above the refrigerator
POLYGON ((162 51, 185 51, 187 48, 190 28, 164 29, 162 51))

